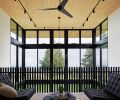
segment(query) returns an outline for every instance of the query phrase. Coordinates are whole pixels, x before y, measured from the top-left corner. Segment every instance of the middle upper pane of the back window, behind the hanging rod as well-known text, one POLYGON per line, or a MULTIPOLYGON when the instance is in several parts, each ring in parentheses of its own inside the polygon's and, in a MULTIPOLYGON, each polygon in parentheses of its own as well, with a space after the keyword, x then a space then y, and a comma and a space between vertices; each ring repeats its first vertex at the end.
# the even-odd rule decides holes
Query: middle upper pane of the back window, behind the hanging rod
POLYGON ((64 31, 54 31, 54 44, 64 44, 64 31))

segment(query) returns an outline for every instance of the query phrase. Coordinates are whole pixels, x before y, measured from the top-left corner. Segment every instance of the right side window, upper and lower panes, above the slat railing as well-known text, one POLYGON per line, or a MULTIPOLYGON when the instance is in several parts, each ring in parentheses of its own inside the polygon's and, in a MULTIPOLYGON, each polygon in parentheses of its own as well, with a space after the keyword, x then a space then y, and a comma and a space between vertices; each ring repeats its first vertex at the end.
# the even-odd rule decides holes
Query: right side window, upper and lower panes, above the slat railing
POLYGON ((108 20, 96 27, 96 67, 108 66, 108 20))

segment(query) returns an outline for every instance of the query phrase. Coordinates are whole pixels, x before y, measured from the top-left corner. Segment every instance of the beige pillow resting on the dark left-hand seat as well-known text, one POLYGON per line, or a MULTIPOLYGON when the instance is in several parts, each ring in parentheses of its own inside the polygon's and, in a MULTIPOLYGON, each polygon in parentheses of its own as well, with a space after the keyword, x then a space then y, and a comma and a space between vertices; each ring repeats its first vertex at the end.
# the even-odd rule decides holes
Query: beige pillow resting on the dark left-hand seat
POLYGON ((17 97, 17 91, 13 87, 0 82, 0 95, 14 98, 17 97))

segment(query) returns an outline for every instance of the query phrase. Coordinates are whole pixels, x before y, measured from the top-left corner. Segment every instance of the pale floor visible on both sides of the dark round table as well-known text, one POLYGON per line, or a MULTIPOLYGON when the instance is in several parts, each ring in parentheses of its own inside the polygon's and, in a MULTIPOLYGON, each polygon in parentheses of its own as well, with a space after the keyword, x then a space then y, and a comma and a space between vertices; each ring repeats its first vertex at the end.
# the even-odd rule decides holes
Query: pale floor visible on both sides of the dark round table
MULTIPOLYGON (((48 93, 35 93, 30 100, 43 100, 43 97, 47 94, 48 93)), ((89 100, 88 97, 83 92, 72 94, 76 96, 76 100, 89 100)))

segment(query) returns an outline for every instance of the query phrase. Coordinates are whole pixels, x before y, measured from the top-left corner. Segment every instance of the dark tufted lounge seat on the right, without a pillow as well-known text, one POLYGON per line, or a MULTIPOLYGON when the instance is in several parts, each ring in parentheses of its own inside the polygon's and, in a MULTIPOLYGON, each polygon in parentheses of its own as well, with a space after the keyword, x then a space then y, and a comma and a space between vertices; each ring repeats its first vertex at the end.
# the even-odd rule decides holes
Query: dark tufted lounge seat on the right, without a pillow
POLYGON ((90 100, 120 100, 120 74, 111 73, 103 90, 85 89, 90 100))

